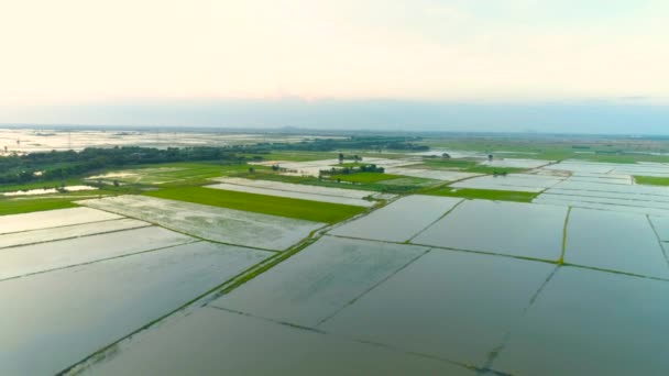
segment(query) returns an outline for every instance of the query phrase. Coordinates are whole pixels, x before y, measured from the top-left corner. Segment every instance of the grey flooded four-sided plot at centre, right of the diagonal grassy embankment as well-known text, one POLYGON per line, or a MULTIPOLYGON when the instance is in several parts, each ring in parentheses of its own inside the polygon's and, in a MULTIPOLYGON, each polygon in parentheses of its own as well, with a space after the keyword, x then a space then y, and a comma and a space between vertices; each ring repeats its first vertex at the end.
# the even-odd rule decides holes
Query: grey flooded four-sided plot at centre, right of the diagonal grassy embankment
POLYGON ((211 306, 314 327, 426 251, 326 236, 211 306))

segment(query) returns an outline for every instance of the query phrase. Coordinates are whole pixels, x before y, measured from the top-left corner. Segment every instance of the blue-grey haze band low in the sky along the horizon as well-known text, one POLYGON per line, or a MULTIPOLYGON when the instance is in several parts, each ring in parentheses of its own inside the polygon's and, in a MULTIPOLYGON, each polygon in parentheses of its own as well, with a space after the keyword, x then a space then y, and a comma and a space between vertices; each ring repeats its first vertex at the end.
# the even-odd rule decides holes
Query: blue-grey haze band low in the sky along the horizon
POLYGON ((669 135, 669 108, 627 99, 531 104, 173 100, 14 108, 1 111, 0 124, 669 135))

